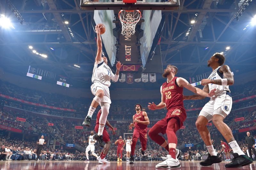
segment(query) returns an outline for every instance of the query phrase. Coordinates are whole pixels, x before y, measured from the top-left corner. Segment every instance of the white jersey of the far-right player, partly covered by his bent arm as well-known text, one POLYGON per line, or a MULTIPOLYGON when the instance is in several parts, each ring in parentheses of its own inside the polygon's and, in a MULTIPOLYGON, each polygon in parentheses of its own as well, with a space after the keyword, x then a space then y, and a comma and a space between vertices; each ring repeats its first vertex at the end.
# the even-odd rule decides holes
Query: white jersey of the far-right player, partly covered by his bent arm
MULTIPOLYGON (((208 77, 208 79, 211 79, 211 80, 217 80, 217 79, 221 79, 223 78, 223 73, 220 72, 220 66, 213 70, 211 75, 208 77)), ((211 84, 209 83, 209 90, 211 91, 212 89, 216 88, 216 91, 215 91, 215 95, 211 97, 211 99, 215 99, 216 97, 218 97, 218 95, 222 92, 230 92, 229 88, 228 88, 228 85, 215 85, 215 84, 211 84)))

